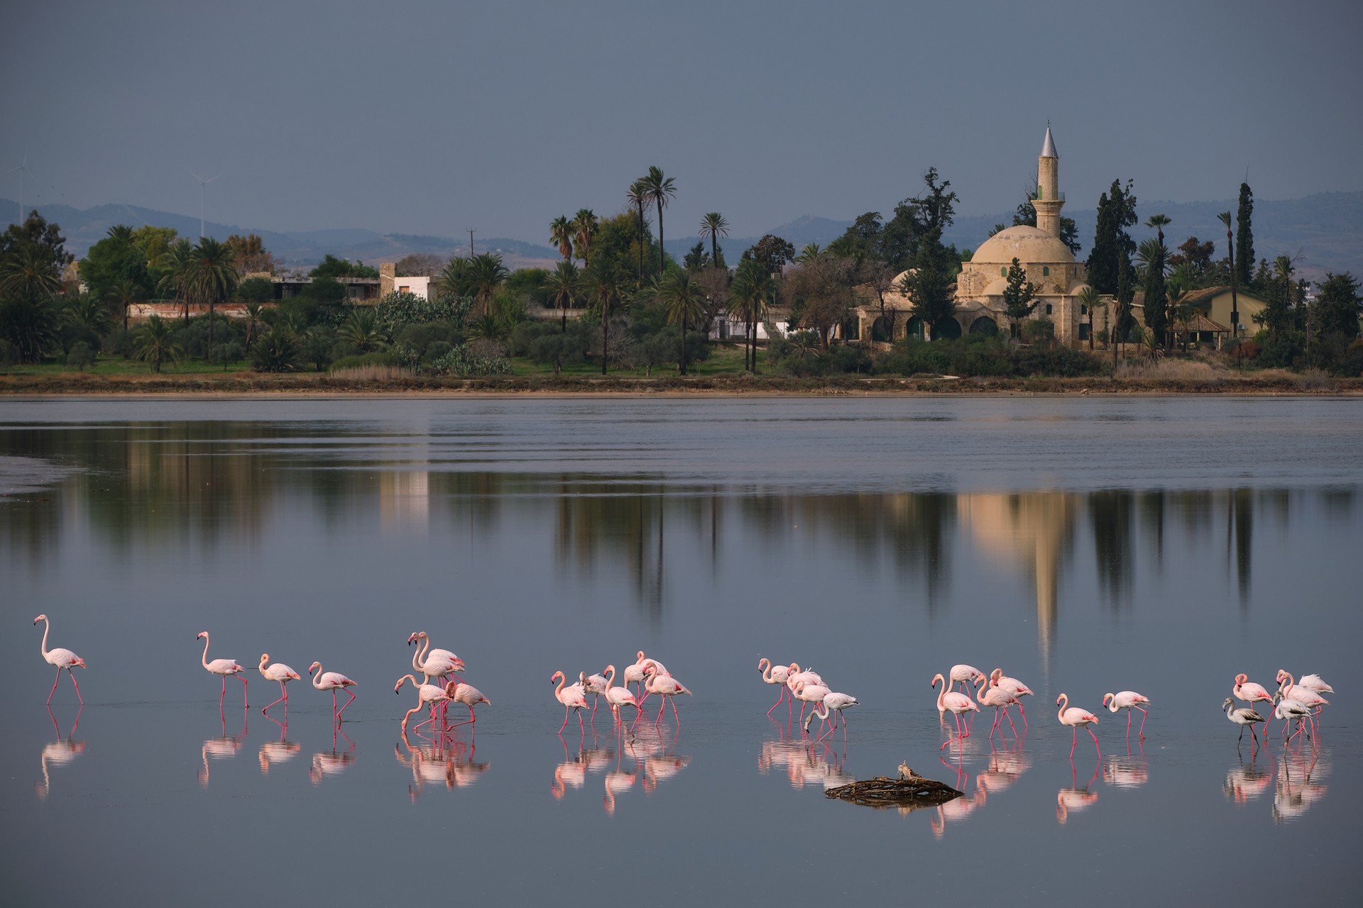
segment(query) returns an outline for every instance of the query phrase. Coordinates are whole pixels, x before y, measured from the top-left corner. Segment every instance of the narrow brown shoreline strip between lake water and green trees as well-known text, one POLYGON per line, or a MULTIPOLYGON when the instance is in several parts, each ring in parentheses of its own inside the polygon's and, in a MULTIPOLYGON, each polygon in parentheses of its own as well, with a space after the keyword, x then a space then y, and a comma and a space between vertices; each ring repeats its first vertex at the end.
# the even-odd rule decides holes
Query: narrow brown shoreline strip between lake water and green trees
POLYGON ((353 380, 326 373, 224 376, 0 376, 0 400, 20 398, 818 398, 818 396, 1363 396, 1363 378, 1239 376, 1186 378, 943 378, 781 376, 353 380))

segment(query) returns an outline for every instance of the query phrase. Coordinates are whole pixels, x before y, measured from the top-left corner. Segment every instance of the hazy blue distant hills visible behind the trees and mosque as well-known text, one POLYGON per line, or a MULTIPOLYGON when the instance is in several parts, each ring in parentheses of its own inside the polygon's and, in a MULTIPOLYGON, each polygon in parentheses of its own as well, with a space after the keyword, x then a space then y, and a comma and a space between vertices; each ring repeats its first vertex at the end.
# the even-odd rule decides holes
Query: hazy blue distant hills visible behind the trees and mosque
MULTIPOLYGON (((889 214, 889 206, 883 214, 889 214)), ((1164 231, 1171 246, 1187 237, 1216 242, 1216 255, 1225 253, 1225 229, 1216 219, 1220 211, 1235 211, 1236 200, 1217 201, 1141 201, 1138 214, 1144 221, 1154 212, 1167 214, 1174 223, 1164 231)), ((44 218, 56 221, 67 237, 67 249, 83 256, 86 250, 116 223, 132 226, 155 225, 174 227, 184 237, 199 236, 199 219, 187 215, 140 208, 128 204, 105 204, 94 208, 72 208, 70 206, 38 206, 44 218)), ((18 206, 0 199, 0 218, 8 222, 18 206)), ((1084 249, 1079 259, 1088 255, 1093 241, 1093 227, 1097 212, 1093 207, 1077 208, 1071 203, 1065 214, 1074 218, 1084 249)), ((946 233, 946 241, 958 248, 976 249, 984 242, 996 223, 1011 223, 1013 212, 992 215, 964 215, 946 233)), ((808 242, 827 245, 837 240, 852 225, 852 221, 801 216, 778 225, 769 231, 788 240, 796 250, 808 242)), ((439 237, 425 234, 378 233, 375 230, 337 229, 278 231, 260 227, 241 227, 209 222, 204 225, 209 236, 226 240, 233 233, 255 233, 264 241, 267 249, 289 265, 309 265, 331 253, 350 260, 364 260, 369 264, 394 261, 413 252, 435 252, 439 255, 465 253, 468 238, 439 237)), ((1133 231, 1137 241, 1153 231, 1138 227, 1133 231)), ((728 237, 721 240, 729 264, 735 264, 744 249, 761 238, 728 237)), ((669 237, 668 252, 682 259, 699 241, 698 236, 669 237)), ((710 244, 706 242, 706 246, 710 244)), ((476 238, 477 252, 497 252, 510 268, 552 267, 559 260, 556 249, 521 240, 493 237, 476 238)), ((1363 192, 1325 192, 1303 199, 1255 200, 1254 203, 1254 253, 1272 261, 1274 257, 1300 256, 1296 267, 1304 278, 1319 278, 1326 271, 1349 271, 1363 276, 1363 192)))

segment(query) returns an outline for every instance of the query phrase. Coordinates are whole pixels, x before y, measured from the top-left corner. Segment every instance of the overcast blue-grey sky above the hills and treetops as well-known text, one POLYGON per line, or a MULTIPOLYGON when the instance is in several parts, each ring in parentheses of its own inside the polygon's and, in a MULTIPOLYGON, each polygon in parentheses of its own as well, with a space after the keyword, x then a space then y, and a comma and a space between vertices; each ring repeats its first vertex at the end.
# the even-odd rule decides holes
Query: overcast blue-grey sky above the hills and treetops
MULTIPOLYGON (((889 214, 935 165, 1017 204, 1045 121, 1071 207, 1363 189, 1363 4, 33 0, 0 33, 0 172, 301 230, 545 242, 676 178, 669 236, 889 214)), ((0 196, 18 192, 7 174, 0 196)))

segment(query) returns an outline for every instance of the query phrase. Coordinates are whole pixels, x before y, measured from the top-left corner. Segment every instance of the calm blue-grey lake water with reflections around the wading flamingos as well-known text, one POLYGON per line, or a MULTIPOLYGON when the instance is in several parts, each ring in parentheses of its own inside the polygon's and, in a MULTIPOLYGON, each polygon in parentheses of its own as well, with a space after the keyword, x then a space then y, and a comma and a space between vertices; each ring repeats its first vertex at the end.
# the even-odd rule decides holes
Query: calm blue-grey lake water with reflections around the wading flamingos
POLYGON ((1363 400, 0 400, 0 892, 1352 903, 1360 451, 1363 400), (44 705, 38 613, 83 709, 44 705), (476 735, 401 736, 416 630, 491 698, 476 735), (639 649, 680 727, 560 738, 549 675, 639 649), (262 652, 304 675, 286 724, 262 652), (761 656, 860 700, 845 745, 767 719, 761 656), (358 682, 339 732, 315 659, 358 682), (1033 687, 1021 739, 985 711, 939 749, 962 662, 1033 687), (1234 675, 1278 668, 1340 692, 1318 735, 1238 746, 1234 675), (1101 711, 1071 760, 1058 694, 1122 689, 1145 741, 1101 711), (901 761, 965 796, 823 796, 901 761))

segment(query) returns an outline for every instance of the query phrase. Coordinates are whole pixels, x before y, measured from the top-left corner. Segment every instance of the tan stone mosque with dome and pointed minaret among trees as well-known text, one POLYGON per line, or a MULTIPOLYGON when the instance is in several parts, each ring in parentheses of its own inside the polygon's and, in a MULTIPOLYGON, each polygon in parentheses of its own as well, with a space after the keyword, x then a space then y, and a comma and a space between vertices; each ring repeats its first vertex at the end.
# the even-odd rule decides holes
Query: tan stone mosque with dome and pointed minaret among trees
MULTIPOLYGON (((1078 294, 1088 287, 1086 268, 1074 260, 1074 253, 1060 241, 1060 155, 1055 150, 1051 127, 1045 128, 1041 155, 1037 158, 1036 192, 1032 193, 1036 226, 1017 226, 1000 230, 985 240, 970 261, 964 263, 955 285, 955 309, 932 325, 934 338, 958 338, 962 334, 1007 332, 1009 317, 1003 313, 1003 290, 1007 287, 1013 259, 1036 286, 1037 306, 1033 319, 1050 319, 1059 343, 1078 346, 1088 343, 1088 310, 1078 294)), ((894 279, 898 287, 908 272, 894 279)), ((915 334, 923 336, 925 325, 913 314, 913 302, 898 290, 885 294, 886 306, 893 306, 906 319, 898 319, 894 336, 915 334)), ((886 321, 874 302, 855 309, 859 336, 890 340, 886 321)))

